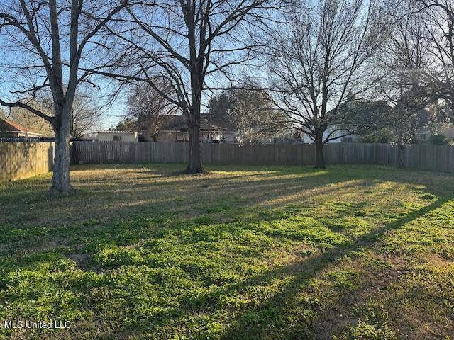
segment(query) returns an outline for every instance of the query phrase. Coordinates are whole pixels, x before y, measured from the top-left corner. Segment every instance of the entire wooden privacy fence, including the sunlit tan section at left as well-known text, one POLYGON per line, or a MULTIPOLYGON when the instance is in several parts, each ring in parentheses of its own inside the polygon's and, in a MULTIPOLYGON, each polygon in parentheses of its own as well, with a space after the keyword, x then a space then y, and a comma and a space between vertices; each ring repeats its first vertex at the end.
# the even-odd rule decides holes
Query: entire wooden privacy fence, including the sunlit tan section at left
MULTIPOLYGON (((186 143, 172 142, 73 142, 72 162, 184 163, 186 143)), ((203 144, 206 164, 314 165, 315 146, 203 144)), ((53 168, 54 144, 48 142, 0 142, 0 181, 25 179, 53 168)), ((397 147, 387 144, 332 143, 325 146, 327 164, 397 165, 397 147)), ((404 150, 409 168, 454 174, 454 145, 412 145, 404 150)))

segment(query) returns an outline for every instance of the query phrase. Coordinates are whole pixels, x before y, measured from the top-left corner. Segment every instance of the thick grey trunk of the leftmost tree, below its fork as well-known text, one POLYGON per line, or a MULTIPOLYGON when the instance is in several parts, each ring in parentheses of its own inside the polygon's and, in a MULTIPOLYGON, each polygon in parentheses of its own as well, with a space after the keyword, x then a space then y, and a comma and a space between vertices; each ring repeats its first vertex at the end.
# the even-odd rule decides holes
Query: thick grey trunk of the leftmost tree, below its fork
POLYGON ((55 120, 55 155, 54 170, 52 176, 51 194, 71 193, 73 191, 70 182, 70 135, 71 123, 69 113, 63 112, 57 115, 60 119, 55 120))

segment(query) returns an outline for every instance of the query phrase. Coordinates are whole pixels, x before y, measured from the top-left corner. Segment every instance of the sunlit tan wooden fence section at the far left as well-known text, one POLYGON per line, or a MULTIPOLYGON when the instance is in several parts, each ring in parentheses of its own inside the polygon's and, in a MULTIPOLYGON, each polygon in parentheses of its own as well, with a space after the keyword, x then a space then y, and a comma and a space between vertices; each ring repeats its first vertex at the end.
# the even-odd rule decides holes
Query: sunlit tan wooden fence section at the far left
POLYGON ((54 143, 0 142, 0 181, 13 181, 52 171, 54 143))

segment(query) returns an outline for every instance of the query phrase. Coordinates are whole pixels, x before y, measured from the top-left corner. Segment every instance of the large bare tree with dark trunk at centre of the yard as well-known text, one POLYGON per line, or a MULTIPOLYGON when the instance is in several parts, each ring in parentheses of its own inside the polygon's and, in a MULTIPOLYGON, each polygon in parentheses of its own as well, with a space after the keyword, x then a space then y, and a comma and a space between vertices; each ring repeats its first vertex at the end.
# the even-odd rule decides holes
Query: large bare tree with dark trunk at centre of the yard
MULTIPOLYGON (((126 44, 125 72, 98 72, 128 81, 145 81, 160 92, 165 78, 175 91, 166 96, 186 117, 189 128, 188 174, 204 173, 201 163, 200 115, 209 81, 226 77, 229 69, 250 62, 261 41, 251 39, 271 16, 275 0, 142 1, 128 6, 129 24, 117 32, 126 44)), ((279 1, 275 1, 279 3, 279 1)), ((112 65, 113 67, 118 66, 112 65)))

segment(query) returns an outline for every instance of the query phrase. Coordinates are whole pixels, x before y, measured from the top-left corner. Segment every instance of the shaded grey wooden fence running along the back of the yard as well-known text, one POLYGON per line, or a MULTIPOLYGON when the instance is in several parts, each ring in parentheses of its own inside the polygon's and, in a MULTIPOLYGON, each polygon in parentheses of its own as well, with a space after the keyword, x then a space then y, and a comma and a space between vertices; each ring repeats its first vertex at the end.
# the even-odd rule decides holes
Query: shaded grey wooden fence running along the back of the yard
MULTIPOLYGON (((184 163, 189 145, 172 142, 74 142, 75 164, 184 163)), ((397 165, 397 147, 387 144, 331 143, 325 146, 327 164, 397 165)), ((206 164, 314 165, 315 145, 203 144, 206 164)), ((411 168, 454 173, 453 145, 411 145, 404 151, 411 168)))

